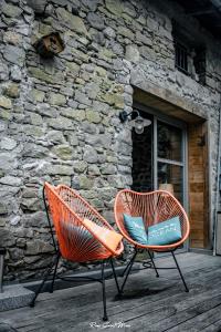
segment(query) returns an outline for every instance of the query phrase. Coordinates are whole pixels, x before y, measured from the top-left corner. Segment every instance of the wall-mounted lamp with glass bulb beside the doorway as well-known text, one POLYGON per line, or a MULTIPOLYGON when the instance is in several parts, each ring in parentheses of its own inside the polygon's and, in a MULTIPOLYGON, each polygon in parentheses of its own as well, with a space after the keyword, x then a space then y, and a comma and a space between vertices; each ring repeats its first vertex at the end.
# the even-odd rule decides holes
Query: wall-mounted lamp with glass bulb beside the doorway
POLYGON ((151 121, 141 117, 137 110, 133 110, 130 113, 122 111, 119 113, 119 120, 122 123, 129 121, 129 124, 135 128, 136 134, 143 134, 145 127, 151 124, 151 121))

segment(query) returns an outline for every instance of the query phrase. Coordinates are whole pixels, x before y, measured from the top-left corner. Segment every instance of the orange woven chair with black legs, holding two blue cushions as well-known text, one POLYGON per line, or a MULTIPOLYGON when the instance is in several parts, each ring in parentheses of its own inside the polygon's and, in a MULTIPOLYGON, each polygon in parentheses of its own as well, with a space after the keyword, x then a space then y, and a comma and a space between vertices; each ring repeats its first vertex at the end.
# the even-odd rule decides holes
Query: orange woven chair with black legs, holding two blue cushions
POLYGON ((122 295, 124 291, 124 287, 135 262, 137 252, 140 249, 146 249, 150 257, 149 262, 144 262, 144 268, 154 268, 157 277, 159 277, 158 269, 160 268, 156 268, 151 252, 171 252, 176 263, 176 268, 178 269, 181 280, 183 282, 185 289, 187 292, 189 291, 185 278, 181 273, 180 267, 178 264, 178 261, 175 257, 175 250, 188 239, 190 226, 186 211, 183 210, 180 203, 170 193, 164 190, 156 190, 151 193, 136 193, 130 189, 120 190, 115 199, 115 220, 124 238, 135 248, 134 255, 123 273, 123 276, 125 273, 126 276, 122 284, 119 295, 122 295), (167 246, 147 246, 136 242, 131 239, 130 235, 125 228, 123 214, 127 214, 133 217, 143 217, 146 230, 149 226, 159 224, 161 221, 178 216, 181 225, 182 238, 181 240, 167 246))

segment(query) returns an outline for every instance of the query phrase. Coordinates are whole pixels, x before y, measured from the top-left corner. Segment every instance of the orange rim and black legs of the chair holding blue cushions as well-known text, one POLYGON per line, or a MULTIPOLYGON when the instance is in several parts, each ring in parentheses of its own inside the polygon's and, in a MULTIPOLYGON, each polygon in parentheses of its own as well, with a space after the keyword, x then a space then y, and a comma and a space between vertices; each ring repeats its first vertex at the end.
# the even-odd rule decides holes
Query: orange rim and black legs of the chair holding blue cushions
POLYGON ((126 266, 126 268, 125 268, 125 270, 124 270, 124 272, 122 274, 122 277, 125 277, 125 278, 124 278, 124 281, 122 283, 120 290, 118 292, 119 298, 122 298, 122 295, 124 293, 125 284, 127 282, 127 279, 129 277, 129 273, 131 271, 133 264, 135 262, 136 256, 137 256, 137 253, 138 253, 139 250, 141 250, 141 251, 147 250, 147 252, 149 255, 149 261, 144 261, 143 262, 143 268, 139 268, 138 270, 148 269, 148 268, 154 269, 155 272, 156 272, 156 277, 159 278, 158 270, 160 270, 160 269, 161 270, 177 269, 178 272, 179 272, 179 274, 180 274, 180 278, 182 280, 182 283, 183 283, 186 292, 189 292, 189 288, 188 288, 186 281, 185 281, 185 277, 183 277, 183 274, 181 272, 181 269, 180 269, 179 263, 177 261, 177 258, 175 256, 175 251, 180 247, 180 245, 182 245, 187 240, 187 238, 189 236, 189 231, 190 231, 188 216, 187 216, 185 209, 182 208, 182 206, 180 205, 180 203, 170 193, 168 193, 166 190, 155 190, 155 191, 151 191, 151 193, 137 193, 137 191, 134 191, 134 190, 130 190, 130 189, 123 189, 123 190, 118 191, 118 194, 117 194, 117 196, 115 198, 114 210, 115 210, 115 221, 117 224, 117 227, 118 227, 119 231, 122 232, 122 235, 124 236, 124 238, 126 238, 126 240, 134 246, 134 255, 133 255, 131 259, 128 261, 128 263, 127 263, 127 266, 126 266), (185 217, 186 222, 187 222, 187 231, 186 231, 185 236, 182 237, 182 239, 180 241, 176 242, 176 243, 168 245, 168 246, 147 246, 147 245, 140 245, 140 243, 134 241, 127 234, 125 234, 124 229, 120 226, 118 217, 117 217, 117 201, 118 201, 118 197, 123 193, 133 193, 133 194, 138 195, 138 196, 139 195, 141 196, 141 195, 147 195, 147 194, 154 194, 154 193, 156 193, 156 194, 169 195, 170 197, 172 197, 172 199, 176 200, 177 205, 179 206, 180 210, 182 211, 183 217, 185 217), (168 268, 156 267, 155 261, 154 261, 154 257, 152 257, 151 252, 169 252, 169 253, 171 253, 172 258, 175 260, 176 267, 168 267, 168 268))

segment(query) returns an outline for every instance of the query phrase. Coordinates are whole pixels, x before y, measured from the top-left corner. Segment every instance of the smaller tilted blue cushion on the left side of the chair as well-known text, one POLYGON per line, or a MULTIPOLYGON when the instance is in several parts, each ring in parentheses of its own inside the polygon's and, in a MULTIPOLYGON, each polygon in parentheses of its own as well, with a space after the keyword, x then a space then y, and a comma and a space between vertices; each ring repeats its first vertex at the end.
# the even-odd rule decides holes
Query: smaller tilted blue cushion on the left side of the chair
POLYGON ((147 245, 147 232, 143 217, 131 217, 124 214, 125 228, 131 239, 140 245, 147 245))

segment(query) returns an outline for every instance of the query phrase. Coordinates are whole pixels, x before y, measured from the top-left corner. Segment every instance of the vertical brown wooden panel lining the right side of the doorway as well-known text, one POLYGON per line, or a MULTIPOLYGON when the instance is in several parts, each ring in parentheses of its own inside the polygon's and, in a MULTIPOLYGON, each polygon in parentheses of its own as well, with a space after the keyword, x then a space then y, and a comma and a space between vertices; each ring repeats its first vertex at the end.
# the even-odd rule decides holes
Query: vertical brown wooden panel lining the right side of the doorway
POLYGON ((190 247, 207 248, 209 242, 207 123, 189 124, 188 174, 190 247))

